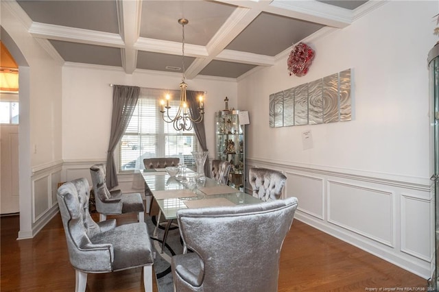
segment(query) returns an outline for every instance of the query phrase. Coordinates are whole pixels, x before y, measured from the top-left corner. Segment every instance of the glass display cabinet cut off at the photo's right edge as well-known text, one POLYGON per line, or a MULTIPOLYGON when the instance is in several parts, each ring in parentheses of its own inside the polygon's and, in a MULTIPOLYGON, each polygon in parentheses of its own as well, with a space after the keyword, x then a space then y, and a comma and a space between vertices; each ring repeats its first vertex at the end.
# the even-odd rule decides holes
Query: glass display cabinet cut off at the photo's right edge
POLYGON ((431 145, 433 154, 431 157, 434 160, 434 172, 431 175, 431 180, 434 181, 434 208, 435 208, 435 220, 434 220, 434 234, 435 234, 435 247, 434 247, 434 263, 432 267, 434 271, 431 273, 431 281, 429 281, 428 291, 438 291, 439 280, 439 42, 429 51, 428 54, 429 63, 429 99, 430 99, 430 119, 434 132, 434 145, 431 145))

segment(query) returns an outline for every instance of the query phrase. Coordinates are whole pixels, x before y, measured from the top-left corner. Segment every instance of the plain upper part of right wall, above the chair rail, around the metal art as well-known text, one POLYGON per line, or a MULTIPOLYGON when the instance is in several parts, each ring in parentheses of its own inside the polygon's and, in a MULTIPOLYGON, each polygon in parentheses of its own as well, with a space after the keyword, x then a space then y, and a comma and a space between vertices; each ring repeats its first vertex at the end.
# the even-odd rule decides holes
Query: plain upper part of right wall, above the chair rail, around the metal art
POLYGON ((429 149, 426 59, 437 40, 432 21, 437 6, 435 1, 391 1, 351 26, 309 43, 316 58, 304 77, 288 75, 285 56, 276 66, 239 82, 239 108, 247 108, 254 118, 250 141, 259 141, 255 132, 263 132, 265 140, 282 141, 276 151, 266 143, 248 143, 252 145, 248 156, 427 177, 428 156, 422 155, 429 149), (353 121, 268 126, 270 94, 348 68, 353 69, 353 121), (305 130, 311 130, 314 142, 306 151, 300 137, 305 130))

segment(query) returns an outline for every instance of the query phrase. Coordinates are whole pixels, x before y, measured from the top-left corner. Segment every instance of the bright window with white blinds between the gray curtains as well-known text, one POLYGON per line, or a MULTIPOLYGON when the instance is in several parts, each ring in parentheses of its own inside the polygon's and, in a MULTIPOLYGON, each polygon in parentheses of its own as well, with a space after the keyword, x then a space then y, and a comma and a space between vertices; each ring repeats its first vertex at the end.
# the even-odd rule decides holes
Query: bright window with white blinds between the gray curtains
POLYGON ((198 148, 193 130, 176 131, 172 123, 166 123, 159 112, 159 101, 171 94, 169 115, 174 117, 178 109, 180 93, 175 90, 141 88, 139 100, 130 123, 119 144, 119 171, 143 169, 143 158, 180 157, 180 162, 195 168, 191 154, 198 148))

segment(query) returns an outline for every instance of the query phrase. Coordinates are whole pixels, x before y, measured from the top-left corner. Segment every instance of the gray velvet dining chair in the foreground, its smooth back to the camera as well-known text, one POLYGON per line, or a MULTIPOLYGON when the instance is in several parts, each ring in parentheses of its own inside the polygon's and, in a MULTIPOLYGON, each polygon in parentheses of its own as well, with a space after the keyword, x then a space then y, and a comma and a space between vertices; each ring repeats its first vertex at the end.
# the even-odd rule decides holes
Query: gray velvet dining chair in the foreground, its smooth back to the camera
POLYGON ((174 291, 277 291, 297 199, 177 211, 187 254, 172 257, 174 291))

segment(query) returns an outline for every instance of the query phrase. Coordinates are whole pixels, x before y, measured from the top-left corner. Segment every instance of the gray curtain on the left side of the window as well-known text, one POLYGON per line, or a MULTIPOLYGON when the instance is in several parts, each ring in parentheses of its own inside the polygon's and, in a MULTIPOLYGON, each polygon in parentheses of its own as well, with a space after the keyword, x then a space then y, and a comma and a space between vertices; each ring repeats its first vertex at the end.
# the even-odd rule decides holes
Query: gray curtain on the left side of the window
POLYGON ((108 143, 106 184, 112 189, 119 184, 113 154, 117 143, 130 123, 132 112, 139 99, 140 87, 138 86, 112 86, 112 117, 110 143, 108 143))

